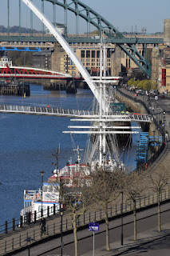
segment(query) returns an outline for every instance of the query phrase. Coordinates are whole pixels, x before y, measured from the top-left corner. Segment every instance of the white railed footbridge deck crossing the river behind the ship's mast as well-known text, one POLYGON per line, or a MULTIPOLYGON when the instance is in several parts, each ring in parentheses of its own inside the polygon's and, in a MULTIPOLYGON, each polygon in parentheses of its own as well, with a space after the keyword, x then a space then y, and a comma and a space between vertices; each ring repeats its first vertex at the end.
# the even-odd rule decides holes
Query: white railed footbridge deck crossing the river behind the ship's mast
MULTIPOLYGON (((0 113, 13 113, 13 114, 38 114, 49 115, 57 117, 69 118, 98 118, 97 112, 89 110, 69 110, 62 108, 40 107, 40 106, 13 106, 13 105, 0 105, 0 113)), ((108 121, 113 122, 151 122, 147 114, 131 114, 131 113, 113 113, 110 112, 104 115, 108 121)))

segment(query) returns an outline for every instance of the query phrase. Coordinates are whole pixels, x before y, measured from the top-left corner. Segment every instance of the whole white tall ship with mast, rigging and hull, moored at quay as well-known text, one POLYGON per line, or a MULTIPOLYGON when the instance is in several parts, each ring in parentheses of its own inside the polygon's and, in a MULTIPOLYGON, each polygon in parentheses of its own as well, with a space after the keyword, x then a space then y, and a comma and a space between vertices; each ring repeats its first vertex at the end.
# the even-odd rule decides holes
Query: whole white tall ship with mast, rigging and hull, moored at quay
POLYGON ((146 115, 139 114, 137 116, 125 111, 111 109, 111 103, 116 102, 115 88, 113 79, 106 77, 104 60, 105 44, 101 39, 101 71, 100 77, 95 77, 99 90, 98 102, 95 105, 96 110, 90 115, 84 114, 71 120, 84 122, 85 125, 69 126, 69 130, 63 131, 65 134, 88 134, 85 161, 81 163, 79 154, 81 149, 77 146, 76 163, 69 162, 61 170, 56 167, 48 181, 42 182, 41 189, 24 190, 24 209, 22 209, 21 215, 25 216, 30 213, 32 221, 34 221, 35 212, 36 218, 41 218, 42 214, 46 216, 47 212, 53 214, 53 208, 59 211, 61 207, 65 207, 65 202, 60 200, 61 186, 64 186, 65 189, 71 188, 75 177, 87 178, 89 170, 93 171, 97 166, 103 167, 105 165, 106 171, 113 171, 115 167, 123 170, 124 163, 119 154, 117 135, 128 134, 131 136, 136 134, 140 126, 132 127, 129 125, 130 122, 134 122, 134 120, 141 122, 142 118, 147 121, 146 115), (88 125, 86 125, 87 123, 88 125))

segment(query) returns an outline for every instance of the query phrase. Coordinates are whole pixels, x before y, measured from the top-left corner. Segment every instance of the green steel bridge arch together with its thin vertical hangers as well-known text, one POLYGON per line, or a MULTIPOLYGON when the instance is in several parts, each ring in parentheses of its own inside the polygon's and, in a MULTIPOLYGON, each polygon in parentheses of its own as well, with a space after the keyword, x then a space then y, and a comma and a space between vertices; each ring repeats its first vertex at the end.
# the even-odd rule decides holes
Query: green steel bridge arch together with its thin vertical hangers
MULTIPOLYGON (((19 1, 19 22, 21 26, 21 1, 19 1)), ((121 48, 128 55, 129 58, 132 59, 133 62, 136 63, 136 66, 140 68, 146 74, 147 77, 151 76, 151 67, 147 61, 147 41, 144 41, 143 52, 145 52, 145 56, 140 54, 140 52, 136 49, 136 40, 129 40, 129 38, 125 38, 121 32, 117 30, 115 26, 113 26, 110 22, 108 22, 105 18, 103 18, 100 14, 98 14, 95 10, 85 5, 83 2, 79 0, 41 0, 42 1, 42 13, 44 13, 44 4, 45 2, 49 2, 53 5, 53 21, 55 21, 55 10, 56 6, 61 6, 65 10, 65 26, 67 26, 67 13, 72 12, 76 16, 76 35, 78 35, 78 20, 79 17, 83 18, 87 22, 87 35, 89 34, 89 26, 90 24, 97 28, 98 31, 105 31, 105 34, 109 38, 110 42, 115 42, 117 46, 121 48)), ((9 2, 9 0, 8 0, 9 2)), ((9 6, 8 6, 8 14, 9 14, 9 6)), ((9 19, 9 18, 8 18, 9 19)), ((33 23, 33 22, 31 22, 33 23)), ((33 24, 32 24, 33 26, 33 24)), ((134 38, 133 38, 134 39, 134 38)))

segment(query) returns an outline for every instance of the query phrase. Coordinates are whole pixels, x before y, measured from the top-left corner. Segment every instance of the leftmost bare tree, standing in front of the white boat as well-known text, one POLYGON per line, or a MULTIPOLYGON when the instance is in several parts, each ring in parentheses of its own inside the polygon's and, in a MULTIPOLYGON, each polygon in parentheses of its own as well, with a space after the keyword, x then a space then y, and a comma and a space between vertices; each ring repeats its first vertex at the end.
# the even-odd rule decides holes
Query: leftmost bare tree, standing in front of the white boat
POLYGON ((86 170, 82 170, 77 165, 77 169, 72 173, 71 185, 68 186, 64 178, 61 177, 61 201, 65 202, 67 214, 69 214, 73 225, 75 256, 78 255, 77 220, 82 214, 85 214, 93 202, 92 179, 88 167, 86 170))

